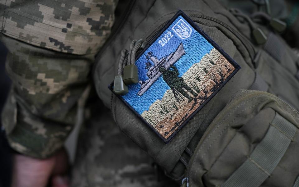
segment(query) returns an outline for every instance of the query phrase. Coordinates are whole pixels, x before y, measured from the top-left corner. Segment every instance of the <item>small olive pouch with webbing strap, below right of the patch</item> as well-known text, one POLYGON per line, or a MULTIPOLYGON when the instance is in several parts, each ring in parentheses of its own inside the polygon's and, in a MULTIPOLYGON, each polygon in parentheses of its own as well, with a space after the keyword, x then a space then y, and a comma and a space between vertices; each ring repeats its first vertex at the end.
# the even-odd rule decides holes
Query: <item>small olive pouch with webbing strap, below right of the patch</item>
POLYGON ((299 113, 279 98, 241 90, 198 143, 189 185, 297 186, 298 127, 299 113))

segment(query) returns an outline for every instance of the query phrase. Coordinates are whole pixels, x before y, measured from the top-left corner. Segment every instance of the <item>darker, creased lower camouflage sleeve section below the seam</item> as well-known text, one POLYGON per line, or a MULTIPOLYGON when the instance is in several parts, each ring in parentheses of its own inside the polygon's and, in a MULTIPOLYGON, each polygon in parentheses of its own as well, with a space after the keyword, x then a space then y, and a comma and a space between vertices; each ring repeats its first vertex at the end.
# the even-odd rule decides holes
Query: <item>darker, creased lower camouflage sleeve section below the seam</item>
POLYGON ((93 56, 49 51, 4 35, 1 40, 9 50, 6 71, 13 83, 2 113, 9 143, 20 153, 49 157, 75 124, 93 56))

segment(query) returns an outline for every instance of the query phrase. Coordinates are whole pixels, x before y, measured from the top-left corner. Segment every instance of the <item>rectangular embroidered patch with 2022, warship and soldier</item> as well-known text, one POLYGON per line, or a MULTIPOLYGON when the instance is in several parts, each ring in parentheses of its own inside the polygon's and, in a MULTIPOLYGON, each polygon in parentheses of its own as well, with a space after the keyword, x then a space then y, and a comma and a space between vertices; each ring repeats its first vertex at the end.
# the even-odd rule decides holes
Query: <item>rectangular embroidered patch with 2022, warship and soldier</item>
POLYGON ((182 11, 135 61, 139 83, 118 96, 163 140, 173 135, 240 69, 182 11))

